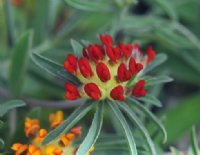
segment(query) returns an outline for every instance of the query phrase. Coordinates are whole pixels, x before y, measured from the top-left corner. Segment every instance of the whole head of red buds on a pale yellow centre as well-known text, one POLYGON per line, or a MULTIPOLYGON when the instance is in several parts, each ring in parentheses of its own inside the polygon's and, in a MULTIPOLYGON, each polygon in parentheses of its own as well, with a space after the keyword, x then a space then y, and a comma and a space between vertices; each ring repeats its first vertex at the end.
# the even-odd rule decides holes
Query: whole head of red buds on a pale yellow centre
POLYGON ((138 79, 137 75, 153 61, 156 55, 154 50, 148 47, 146 54, 143 54, 138 44, 119 42, 115 46, 109 35, 100 35, 100 40, 102 44, 91 44, 83 48, 81 58, 67 55, 64 67, 82 85, 77 88, 72 83, 66 83, 66 98, 123 101, 126 96, 145 96, 145 81, 138 79), (127 85, 133 78, 135 84, 127 85))

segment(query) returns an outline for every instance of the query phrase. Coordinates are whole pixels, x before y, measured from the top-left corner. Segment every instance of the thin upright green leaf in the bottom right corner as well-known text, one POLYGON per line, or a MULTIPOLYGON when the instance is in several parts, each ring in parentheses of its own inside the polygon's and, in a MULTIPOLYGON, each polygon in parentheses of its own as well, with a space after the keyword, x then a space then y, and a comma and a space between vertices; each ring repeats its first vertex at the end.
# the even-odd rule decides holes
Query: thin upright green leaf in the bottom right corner
POLYGON ((198 142, 197 142, 197 135, 196 135, 195 126, 193 126, 192 129, 191 129, 190 138, 191 138, 191 145, 192 145, 193 155, 198 155, 199 148, 198 148, 198 142))

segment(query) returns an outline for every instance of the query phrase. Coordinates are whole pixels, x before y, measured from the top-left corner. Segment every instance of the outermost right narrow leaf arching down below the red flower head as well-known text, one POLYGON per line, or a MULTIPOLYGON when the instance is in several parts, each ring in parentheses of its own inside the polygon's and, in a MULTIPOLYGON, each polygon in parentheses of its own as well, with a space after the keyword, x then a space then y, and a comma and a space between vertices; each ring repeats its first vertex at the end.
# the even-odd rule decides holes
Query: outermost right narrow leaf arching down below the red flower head
POLYGON ((138 109, 144 112, 148 116, 148 118, 150 118, 158 126, 158 128, 162 131, 162 134, 163 134, 163 143, 165 143, 167 141, 167 132, 163 124, 160 122, 160 120, 151 111, 149 111, 149 109, 144 107, 137 100, 133 98, 128 98, 127 102, 131 103, 132 106, 136 106, 138 109))

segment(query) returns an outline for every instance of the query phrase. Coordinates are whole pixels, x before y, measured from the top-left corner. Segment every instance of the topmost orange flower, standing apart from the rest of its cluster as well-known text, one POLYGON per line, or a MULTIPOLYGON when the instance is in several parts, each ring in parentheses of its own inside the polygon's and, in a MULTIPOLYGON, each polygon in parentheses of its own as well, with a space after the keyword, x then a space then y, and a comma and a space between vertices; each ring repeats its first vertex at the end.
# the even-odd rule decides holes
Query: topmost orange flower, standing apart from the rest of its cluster
POLYGON ((63 122, 63 112, 57 111, 55 114, 49 116, 49 122, 51 123, 51 128, 55 129, 63 122))

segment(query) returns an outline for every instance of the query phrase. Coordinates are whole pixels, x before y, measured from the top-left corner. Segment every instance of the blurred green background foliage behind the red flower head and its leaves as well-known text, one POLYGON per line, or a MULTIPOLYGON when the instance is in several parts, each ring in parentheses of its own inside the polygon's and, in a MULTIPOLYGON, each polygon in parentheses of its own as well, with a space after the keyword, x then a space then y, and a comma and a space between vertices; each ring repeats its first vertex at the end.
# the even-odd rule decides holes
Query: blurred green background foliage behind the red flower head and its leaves
MULTIPOLYGON (((65 81, 37 66, 31 53, 62 65, 72 52, 70 39, 87 45, 99 42, 100 33, 111 34, 116 42, 138 42, 143 49, 152 45, 157 53, 167 54, 167 61, 151 74, 170 75, 174 81, 150 90, 163 107, 149 108, 168 132, 162 149, 188 149, 191 127, 196 125, 200 133, 199 0, 0 0, 0 102, 21 98, 27 103, 2 118, 8 122, 0 129, 7 149, 25 141, 26 116, 47 124, 50 112, 61 108, 67 116, 80 104, 66 103, 65 81)), ((112 132, 109 119, 105 122, 104 132, 112 132)), ((88 120, 80 123, 87 130, 88 120)), ((155 132, 150 122, 146 124, 155 132)), ((155 141, 160 144, 159 136, 155 141)))

